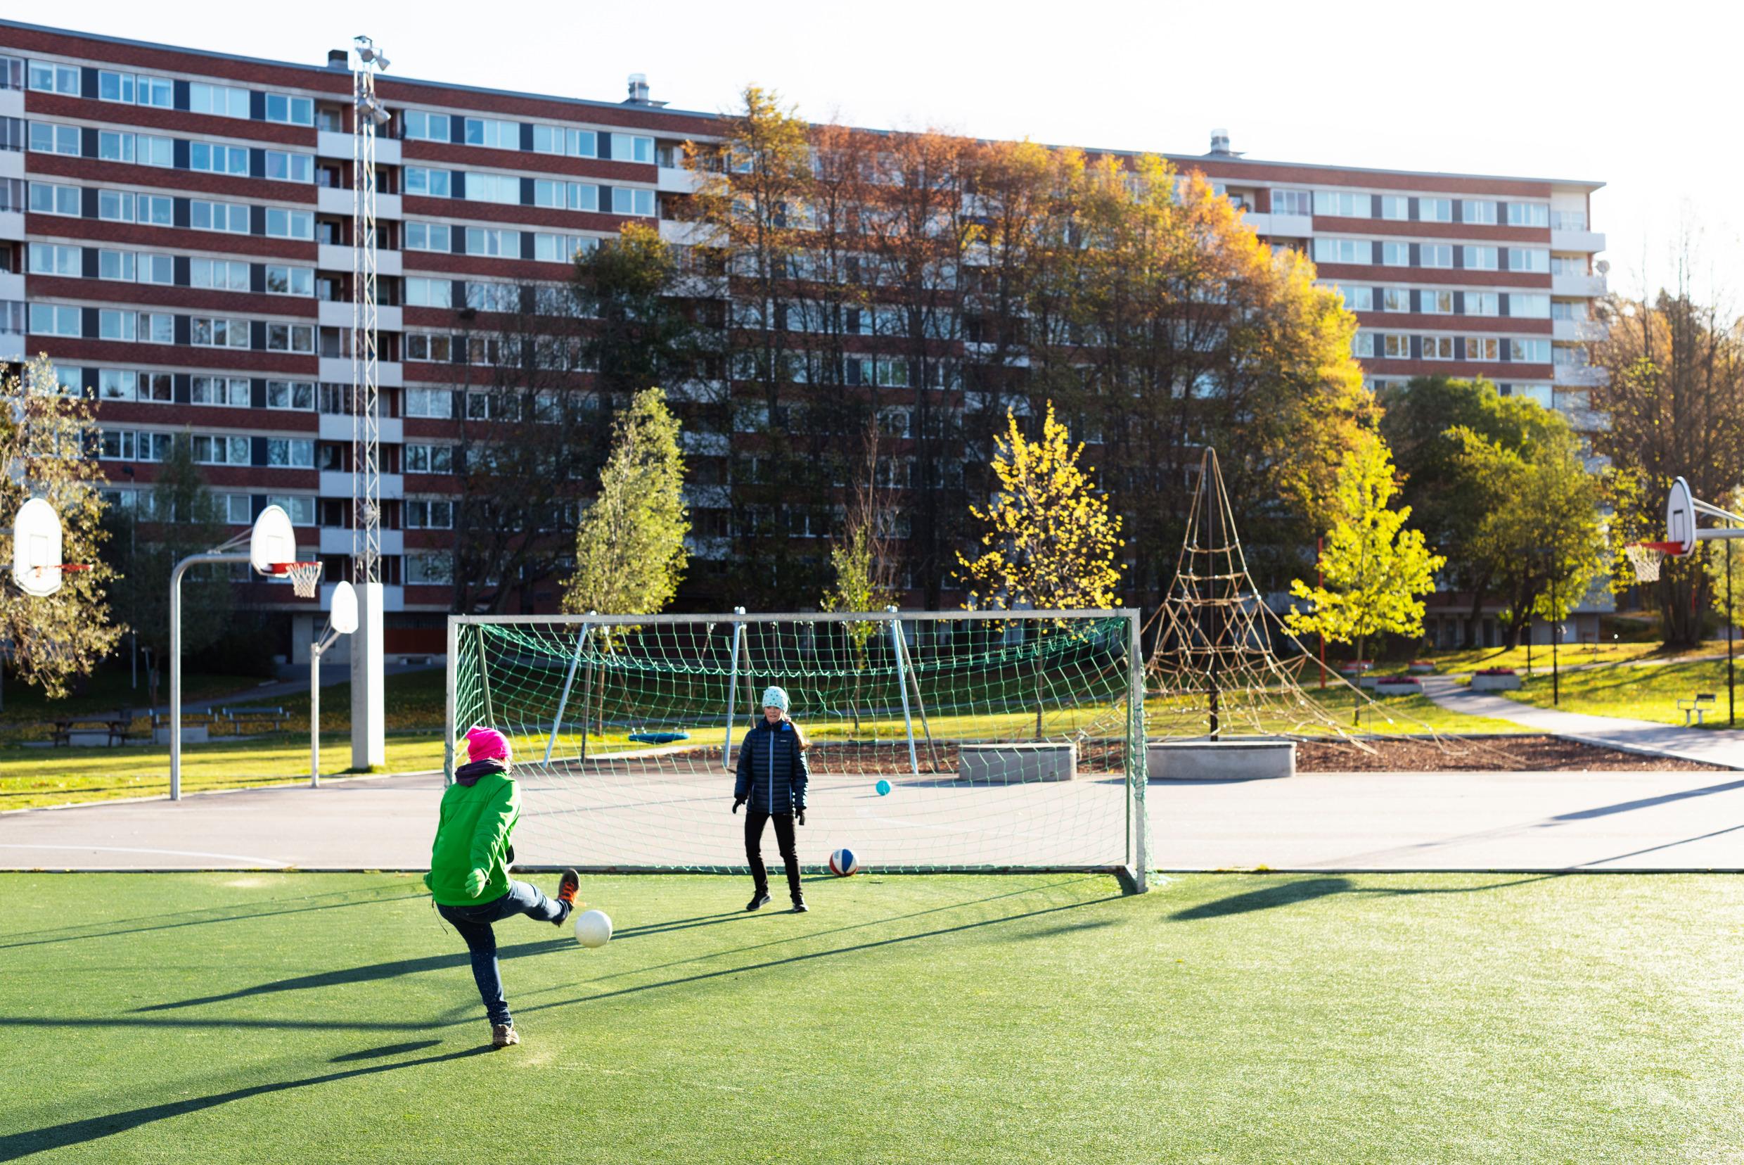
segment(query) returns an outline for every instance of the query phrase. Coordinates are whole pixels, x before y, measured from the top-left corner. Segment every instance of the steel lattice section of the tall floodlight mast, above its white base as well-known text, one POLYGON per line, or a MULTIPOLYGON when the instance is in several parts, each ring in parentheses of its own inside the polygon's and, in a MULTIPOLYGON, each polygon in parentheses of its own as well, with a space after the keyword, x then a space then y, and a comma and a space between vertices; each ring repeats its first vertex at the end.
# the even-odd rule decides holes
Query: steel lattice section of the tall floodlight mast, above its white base
POLYGON ((375 317, 375 129, 387 110, 375 98, 375 72, 387 58, 358 37, 352 73, 351 202, 351 556, 352 581, 382 581, 382 406, 375 317))

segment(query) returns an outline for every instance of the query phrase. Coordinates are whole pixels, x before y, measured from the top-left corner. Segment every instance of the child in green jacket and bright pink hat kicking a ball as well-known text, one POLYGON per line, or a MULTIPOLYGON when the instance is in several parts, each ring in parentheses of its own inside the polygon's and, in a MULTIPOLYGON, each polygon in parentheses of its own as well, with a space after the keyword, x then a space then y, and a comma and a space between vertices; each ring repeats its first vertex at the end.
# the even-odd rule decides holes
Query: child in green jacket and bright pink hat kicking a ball
POLYGON ((514 860, 509 834, 521 816, 521 790, 509 776, 509 739, 497 729, 474 727, 466 734, 466 755, 467 764, 455 769, 453 785, 441 795, 441 821, 424 884, 436 898, 436 910, 473 952, 473 980, 490 1017, 490 1043, 506 1048, 521 1038, 502 998, 497 937, 490 924, 525 914, 562 926, 576 909, 581 879, 576 870, 563 870, 553 902, 537 886, 509 877, 514 860))

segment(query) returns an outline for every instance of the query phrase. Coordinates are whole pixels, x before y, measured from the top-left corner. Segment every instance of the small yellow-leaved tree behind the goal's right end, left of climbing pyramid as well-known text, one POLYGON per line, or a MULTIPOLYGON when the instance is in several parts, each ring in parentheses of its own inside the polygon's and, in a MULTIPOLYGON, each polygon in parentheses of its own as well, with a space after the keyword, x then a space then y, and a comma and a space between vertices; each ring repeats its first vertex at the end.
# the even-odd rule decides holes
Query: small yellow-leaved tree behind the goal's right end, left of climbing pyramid
POLYGON ((1006 410, 1006 433, 996 439, 992 473, 999 488, 992 504, 970 514, 982 523, 980 553, 957 555, 970 609, 1043 610, 1114 605, 1121 563, 1120 514, 1095 490, 1073 445, 1053 417, 1053 401, 1031 441, 1006 410))

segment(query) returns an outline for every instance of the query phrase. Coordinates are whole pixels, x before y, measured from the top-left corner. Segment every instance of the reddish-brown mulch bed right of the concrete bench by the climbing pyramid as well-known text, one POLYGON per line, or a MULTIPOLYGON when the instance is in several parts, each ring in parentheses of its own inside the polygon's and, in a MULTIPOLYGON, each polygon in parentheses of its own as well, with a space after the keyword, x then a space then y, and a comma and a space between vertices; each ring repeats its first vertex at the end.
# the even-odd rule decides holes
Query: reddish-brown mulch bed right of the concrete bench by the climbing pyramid
POLYGON ((1296 745, 1298 773, 1728 773, 1718 764, 1646 757, 1617 748, 1580 745, 1559 736, 1489 736, 1434 739, 1371 739, 1374 752, 1355 745, 1296 745))

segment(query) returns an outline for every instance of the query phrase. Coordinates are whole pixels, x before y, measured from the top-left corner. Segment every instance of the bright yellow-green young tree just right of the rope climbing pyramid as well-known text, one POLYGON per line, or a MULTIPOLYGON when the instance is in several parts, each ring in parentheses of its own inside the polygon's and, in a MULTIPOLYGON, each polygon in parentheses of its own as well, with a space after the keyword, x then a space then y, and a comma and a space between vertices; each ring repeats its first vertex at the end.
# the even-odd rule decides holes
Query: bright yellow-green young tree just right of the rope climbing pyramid
POLYGON ((1423 633, 1420 595, 1435 589, 1435 572, 1446 560, 1428 551, 1421 530, 1406 528, 1411 508, 1393 509, 1395 494, 1385 441, 1367 441, 1346 455, 1334 495, 1338 518, 1320 555, 1325 581, 1291 581, 1291 595, 1311 603, 1308 612, 1291 605, 1285 623, 1292 633, 1355 644, 1357 659, 1374 635, 1423 633))

